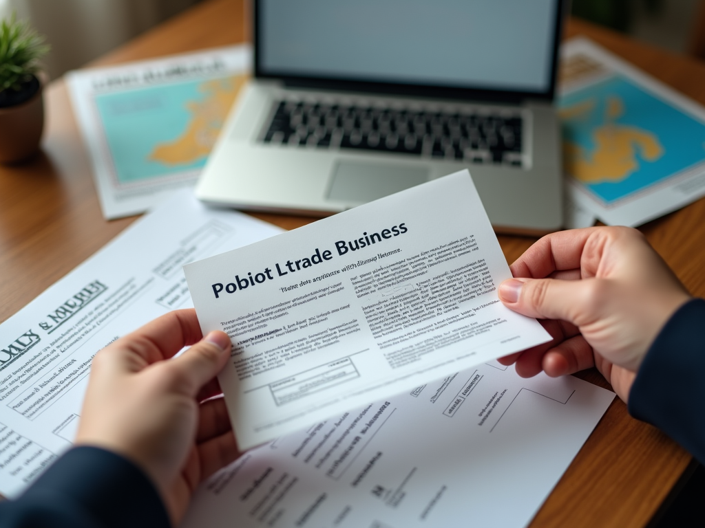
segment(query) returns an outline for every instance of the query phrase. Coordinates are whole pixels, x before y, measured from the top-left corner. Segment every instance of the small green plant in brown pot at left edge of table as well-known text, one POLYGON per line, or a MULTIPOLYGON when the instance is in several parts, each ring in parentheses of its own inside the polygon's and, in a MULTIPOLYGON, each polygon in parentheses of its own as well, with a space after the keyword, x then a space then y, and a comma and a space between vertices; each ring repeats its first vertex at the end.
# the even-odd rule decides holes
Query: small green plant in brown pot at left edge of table
POLYGON ((0 163, 37 151, 44 128, 39 59, 49 51, 29 24, 12 15, 0 23, 0 163))

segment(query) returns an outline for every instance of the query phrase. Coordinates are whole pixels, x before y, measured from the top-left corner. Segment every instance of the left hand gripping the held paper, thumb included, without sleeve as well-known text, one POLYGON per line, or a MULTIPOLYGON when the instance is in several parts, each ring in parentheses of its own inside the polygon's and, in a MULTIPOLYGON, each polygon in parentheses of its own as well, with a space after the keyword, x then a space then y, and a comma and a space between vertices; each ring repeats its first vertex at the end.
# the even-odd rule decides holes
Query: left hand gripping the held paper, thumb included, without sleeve
POLYGON ((178 310, 99 351, 75 439, 141 467, 173 524, 197 485, 239 454, 223 398, 204 401, 220 392, 215 376, 230 357, 230 338, 201 338, 195 310, 178 310))

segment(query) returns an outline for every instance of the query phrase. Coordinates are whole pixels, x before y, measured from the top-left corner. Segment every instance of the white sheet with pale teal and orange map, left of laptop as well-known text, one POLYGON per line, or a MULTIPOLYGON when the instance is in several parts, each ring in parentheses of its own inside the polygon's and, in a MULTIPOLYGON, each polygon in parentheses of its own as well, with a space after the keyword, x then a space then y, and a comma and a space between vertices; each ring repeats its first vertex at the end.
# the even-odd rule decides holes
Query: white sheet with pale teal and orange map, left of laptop
POLYGON ((195 184, 251 61, 242 45, 67 74, 105 218, 195 184))

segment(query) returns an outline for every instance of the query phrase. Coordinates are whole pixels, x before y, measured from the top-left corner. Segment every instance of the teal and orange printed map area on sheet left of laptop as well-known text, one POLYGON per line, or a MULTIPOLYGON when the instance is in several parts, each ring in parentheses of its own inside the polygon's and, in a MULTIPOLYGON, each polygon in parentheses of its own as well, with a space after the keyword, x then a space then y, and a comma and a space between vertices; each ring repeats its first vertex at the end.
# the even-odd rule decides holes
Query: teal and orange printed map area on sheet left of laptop
POLYGON ((242 75, 96 97, 118 184, 203 167, 242 75))

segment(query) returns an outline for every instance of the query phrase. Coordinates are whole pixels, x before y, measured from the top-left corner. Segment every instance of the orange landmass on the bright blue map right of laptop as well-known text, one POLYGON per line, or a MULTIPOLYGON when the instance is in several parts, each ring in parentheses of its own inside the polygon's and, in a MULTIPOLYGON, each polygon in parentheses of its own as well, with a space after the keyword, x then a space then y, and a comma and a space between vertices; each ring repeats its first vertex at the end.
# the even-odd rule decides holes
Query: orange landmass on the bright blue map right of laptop
MULTIPOLYGON (((592 111, 593 101, 586 101, 561 111, 563 118, 580 118, 592 111)), ((663 156, 663 146, 651 132, 615 123, 624 113, 624 103, 617 96, 608 98, 605 123, 593 135, 595 149, 587 152, 582 146, 565 142, 563 163, 565 172, 585 183, 619 182, 639 168, 637 154, 646 161, 663 156)))

